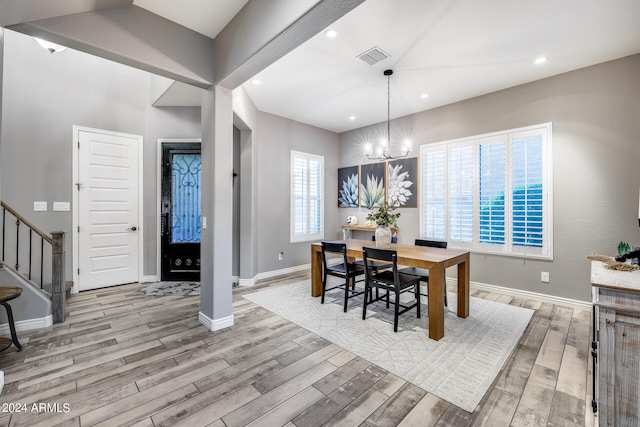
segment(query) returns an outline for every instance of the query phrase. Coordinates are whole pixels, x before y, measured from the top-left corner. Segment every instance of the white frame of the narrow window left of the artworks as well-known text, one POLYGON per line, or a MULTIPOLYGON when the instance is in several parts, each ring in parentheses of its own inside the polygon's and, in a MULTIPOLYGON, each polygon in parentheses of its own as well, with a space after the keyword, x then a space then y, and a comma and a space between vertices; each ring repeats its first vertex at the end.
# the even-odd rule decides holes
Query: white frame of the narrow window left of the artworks
MULTIPOLYGON (((291 150, 291 163, 290 163, 290 217, 289 217, 289 237, 290 243, 300 243, 300 242, 309 242, 309 241, 317 241, 324 238, 324 156, 320 156, 317 154, 304 153, 301 151, 291 150), (320 203, 320 215, 319 215, 319 227, 320 231, 318 233, 312 233, 311 227, 308 227, 306 232, 304 233, 296 233, 296 170, 295 170, 295 162, 296 160, 304 160, 307 163, 306 174, 307 177, 310 175, 310 162, 315 161, 320 163, 319 168, 319 176, 315 184, 317 185, 317 194, 320 203)), ((311 194, 309 192, 309 188, 311 187, 311 181, 307 181, 307 194, 311 194)), ((306 200, 304 210, 307 214, 307 224, 311 224, 311 197, 306 200)))

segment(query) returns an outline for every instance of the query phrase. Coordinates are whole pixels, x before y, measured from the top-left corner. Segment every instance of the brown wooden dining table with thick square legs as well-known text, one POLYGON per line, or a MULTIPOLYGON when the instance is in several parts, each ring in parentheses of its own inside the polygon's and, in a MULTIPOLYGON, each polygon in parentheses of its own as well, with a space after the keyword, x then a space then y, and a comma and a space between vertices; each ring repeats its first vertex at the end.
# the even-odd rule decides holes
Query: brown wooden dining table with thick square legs
MULTIPOLYGON (((371 240, 347 239, 336 242, 346 243, 347 257, 351 260, 362 259, 363 247, 376 247, 376 242, 371 240)), ((469 251, 401 243, 392 243, 387 249, 397 252, 399 265, 429 270, 429 292, 427 294, 429 338, 438 341, 444 337, 445 271, 449 267, 457 266, 458 270, 457 315, 462 318, 469 316, 469 251)), ((318 297, 321 294, 322 244, 320 242, 314 242, 311 244, 311 295, 318 297)))

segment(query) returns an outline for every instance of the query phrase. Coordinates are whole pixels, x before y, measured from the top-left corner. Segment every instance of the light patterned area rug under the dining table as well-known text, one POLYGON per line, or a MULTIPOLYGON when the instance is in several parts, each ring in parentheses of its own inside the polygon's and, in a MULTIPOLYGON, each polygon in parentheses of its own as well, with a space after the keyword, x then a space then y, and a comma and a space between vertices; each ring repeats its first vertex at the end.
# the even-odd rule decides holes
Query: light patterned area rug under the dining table
POLYGON ((473 412, 527 327, 533 310, 471 298, 470 315, 456 315, 456 294, 449 293, 445 334, 428 338, 428 308, 400 316, 393 332, 393 305, 367 307, 362 296, 351 298, 342 311, 344 293, 328 292, 325 304, 311 297, 309 280, 271 288, 244 297, 331 341, 388 372, 423 388, 467 412, 473 412))

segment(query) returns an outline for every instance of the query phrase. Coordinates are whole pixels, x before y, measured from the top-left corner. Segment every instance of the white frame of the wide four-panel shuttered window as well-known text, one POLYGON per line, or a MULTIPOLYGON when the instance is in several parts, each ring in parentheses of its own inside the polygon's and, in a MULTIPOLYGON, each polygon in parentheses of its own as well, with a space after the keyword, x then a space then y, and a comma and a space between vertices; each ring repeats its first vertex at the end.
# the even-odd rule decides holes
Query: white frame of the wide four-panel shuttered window
MULTIPOLYGON (((420 146, 420 236, 422 238, 444 239, 449 242, 450 248, 464 249, 471 252, 504 255, 522 258, 533 258, 543 260, 553 260, 553 126, 552 123, 542 123, 538 125, 521 128, 508 129, 504 131, 491 132, 487 134, 474 135, 470 137, 442 141, 420 146), (521 246, 514 244, 513 238, 513 181, 512 170, 512 146, 515 140, 527 136, 540 136, 542 142, 542 246, 521 246), (480 240, 480 144, 504 141, 504 193, 505 193, 505 225, 504 243, 491 244, 480 240), (450 206, 450 162, 451 151, 460 147, 473 147, 473 194, 472 194, 472 240, 470 242, 459 242, 451 240, 451 206, 450 206), (435 230, 435 224, 427 224, 427 191, 433 191, 432 182, 426 181, 425 162, 427 157, 433 159, 436 153, 444 152, 444 184, 440 184, 444 191, 444 231, 443 235, 427 235, 427 232, 435 230), (427 229, 430 230, 427 230, 427 229)), ((442 165, 439 165, 442 166, 442 165)), ((432 176, 432 175, 431 175, 432 176)), ((442 180, 440 180, 442 181, 442 180)), ((433 198, 430 197, 429 200, 433 198)), ((435 207, 432 205, 432 211, 435 207)), ((441 228, 439 229, 441 230, 441 228)))

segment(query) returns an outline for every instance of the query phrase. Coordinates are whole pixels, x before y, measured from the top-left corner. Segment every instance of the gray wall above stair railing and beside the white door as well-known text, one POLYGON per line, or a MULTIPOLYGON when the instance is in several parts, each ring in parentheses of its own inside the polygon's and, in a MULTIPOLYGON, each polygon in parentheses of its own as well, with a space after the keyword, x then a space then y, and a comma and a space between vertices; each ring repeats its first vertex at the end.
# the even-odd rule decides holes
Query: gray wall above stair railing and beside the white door
MULTIPOLYGON (((145 135, 149 74, 67 49, 51 54, 5 30, 2 198, 44 232, 71 230, 72 127, 145 135), (34 212, 35 200, 48 212, 34 212)), ((71 278, 71 235, 66 238, 71 278)))

